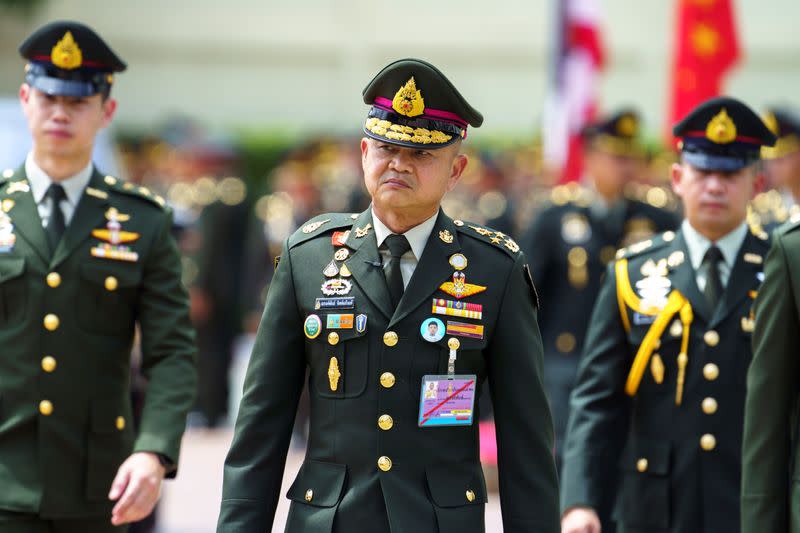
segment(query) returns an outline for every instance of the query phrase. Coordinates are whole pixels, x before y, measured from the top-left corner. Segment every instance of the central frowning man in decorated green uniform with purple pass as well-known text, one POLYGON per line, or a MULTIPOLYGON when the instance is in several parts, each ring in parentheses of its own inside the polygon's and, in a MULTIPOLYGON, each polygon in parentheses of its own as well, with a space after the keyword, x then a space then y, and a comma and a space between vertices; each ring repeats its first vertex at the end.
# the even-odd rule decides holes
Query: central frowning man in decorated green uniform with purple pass
POLYGON ((558 531, 527 260, 507 235, 440 208, 467 165, 467 127, 483 117, 416 59, 385 67, 363 97, 372 106, 361 141, 372 204, 320 215, 284 245, 217 531, 272 527, 307 367, 309 443, 286 531, 484 531, 475 400, 487 378, 504 529, 558 531))

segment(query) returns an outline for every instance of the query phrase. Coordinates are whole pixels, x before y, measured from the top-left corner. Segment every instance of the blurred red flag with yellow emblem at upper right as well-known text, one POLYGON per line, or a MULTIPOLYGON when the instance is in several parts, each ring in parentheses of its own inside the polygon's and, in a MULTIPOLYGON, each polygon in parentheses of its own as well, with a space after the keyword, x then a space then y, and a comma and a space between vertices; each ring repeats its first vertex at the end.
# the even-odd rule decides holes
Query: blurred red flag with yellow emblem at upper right
POLYGON ((739 58, 733 0, 678 0, 667 139, 672 125, 699 103, 719 96, 739 58))

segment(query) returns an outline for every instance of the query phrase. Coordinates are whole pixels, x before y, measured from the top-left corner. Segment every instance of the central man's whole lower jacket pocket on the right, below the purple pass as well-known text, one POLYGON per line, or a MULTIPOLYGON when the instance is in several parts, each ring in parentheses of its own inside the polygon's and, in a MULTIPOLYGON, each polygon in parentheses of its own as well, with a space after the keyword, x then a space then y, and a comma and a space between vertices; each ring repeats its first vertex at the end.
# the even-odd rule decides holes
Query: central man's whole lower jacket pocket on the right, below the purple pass
POLYGON ((480 464, 442 464, 425 469, 440 533, 483 532, 486 483, 480 464))

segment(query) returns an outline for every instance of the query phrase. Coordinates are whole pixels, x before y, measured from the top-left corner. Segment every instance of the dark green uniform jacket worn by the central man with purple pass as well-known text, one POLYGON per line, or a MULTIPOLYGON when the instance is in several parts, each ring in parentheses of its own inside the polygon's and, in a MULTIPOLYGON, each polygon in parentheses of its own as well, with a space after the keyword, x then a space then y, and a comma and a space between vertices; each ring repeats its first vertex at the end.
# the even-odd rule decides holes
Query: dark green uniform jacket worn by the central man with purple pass
POLYGON ((456 318, 485 330, 482 339, 459 337, 455 373, 477 374, 481 385, 488 377, 491 385, 505 531, 559 531, 552 421, 524 256, 508 237, 440 212, 392 312, 375 234, 358 236, 372 222, 371 211, 353 216, 319 216, 315 222, 326 221, 320 229, 297 232, 284 247, 225 462, 217 531, 270 529, 306 367, 310 436, 305 463, 287 494, 292 504, 286 531, 484 531, 487 495, 477 424, 422 429, 417 423, 422 377, 447 373, 450 338, 427 342, 420 325, 434 316, 434 298, 453 298, 439 286, 452 279, 448 260, 455 253, 469 262, 461 271, 467 283, 486 287, 464 298, 483 306, 483 318, 456 318), (345 245, 334 247, 332 231, 348 229, 345 245), (352 273, 347 296, 355 298, 355 309, 315 309, 323 296, 323 269, 340 248, 349 250, 337 263, 352 273), (308 315, 320 315, 324 325, 328 313, 348 312, 367 315, 364 333, 336 330, 335 345, 327 329, 314 339, 303 333, 308 315), (333 357, 341 373, 335 391, 333 357))

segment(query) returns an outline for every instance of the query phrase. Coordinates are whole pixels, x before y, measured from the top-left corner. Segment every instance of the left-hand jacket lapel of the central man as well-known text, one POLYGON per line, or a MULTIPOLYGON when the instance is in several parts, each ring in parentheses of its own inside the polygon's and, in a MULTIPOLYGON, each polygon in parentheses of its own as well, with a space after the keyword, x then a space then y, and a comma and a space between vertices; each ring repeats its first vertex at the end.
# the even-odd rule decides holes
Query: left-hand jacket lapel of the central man
POLYGON ((372 224, 371 208, 361 213, 350 229, 345 246, 353 253, 345 264, 353 274, 353 281, 388 319, 392 317, 392 300, 386 285, 386 276, 383 275, 383 262, 378 253, 375 230, 370 228, 363 237, 358 237, 357 233, 357 230, 364 230, 368 224, 372 224))

